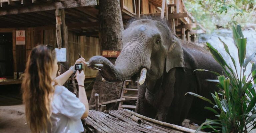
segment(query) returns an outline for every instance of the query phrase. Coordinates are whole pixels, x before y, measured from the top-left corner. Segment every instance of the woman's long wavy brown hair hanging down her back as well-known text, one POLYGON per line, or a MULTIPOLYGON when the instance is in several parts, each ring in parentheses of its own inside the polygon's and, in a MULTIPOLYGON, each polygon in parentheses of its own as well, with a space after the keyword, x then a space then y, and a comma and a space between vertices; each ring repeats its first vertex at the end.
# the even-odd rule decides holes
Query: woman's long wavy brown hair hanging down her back
POLYGON ((33 48, 28 57, 21 87, 26 120, 33 133, 47 131, 47 123, 50 122, 54 94, 51 74, 55 58, 55 50, 45 45, 33 48))

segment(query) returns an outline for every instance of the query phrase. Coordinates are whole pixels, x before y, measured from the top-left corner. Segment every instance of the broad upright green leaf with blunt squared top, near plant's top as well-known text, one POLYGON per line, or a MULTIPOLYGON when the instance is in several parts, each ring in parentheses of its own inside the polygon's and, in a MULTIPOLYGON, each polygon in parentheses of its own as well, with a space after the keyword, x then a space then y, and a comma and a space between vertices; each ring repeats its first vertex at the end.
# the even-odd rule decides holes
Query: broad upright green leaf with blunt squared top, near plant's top
POLYGON ((244 58, 246 54, 246 38, 243 39, 237 39, 237 48, 238 48, 238 58, 240 67, 242 67, 244 63, 244 58))

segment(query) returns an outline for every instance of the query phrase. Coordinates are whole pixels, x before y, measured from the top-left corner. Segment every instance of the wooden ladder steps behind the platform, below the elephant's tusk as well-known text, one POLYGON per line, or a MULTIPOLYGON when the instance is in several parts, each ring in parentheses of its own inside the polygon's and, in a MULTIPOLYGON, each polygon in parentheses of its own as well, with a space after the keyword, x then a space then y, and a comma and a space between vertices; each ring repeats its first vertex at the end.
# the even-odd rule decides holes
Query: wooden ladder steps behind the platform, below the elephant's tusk
MULTIPOLYGON (((129 83, 132 82, 131 80, 126 80, 124 81, 122 92, 120 98, 125 98, 125 99, 138 99, 138 86, 135 88, 127 88, 129 83), (128 91, 137 91, 137 96, 125 96, 124 94, 127 93, 128 91)), ((136 81, 137 83, 137 81, 136 81)), ((120 108, 127 108, 127 109, 135 109, 136 105, 128 105, 128 104, 123 104, 123 101, 119 102, 118 110, 120 108)))

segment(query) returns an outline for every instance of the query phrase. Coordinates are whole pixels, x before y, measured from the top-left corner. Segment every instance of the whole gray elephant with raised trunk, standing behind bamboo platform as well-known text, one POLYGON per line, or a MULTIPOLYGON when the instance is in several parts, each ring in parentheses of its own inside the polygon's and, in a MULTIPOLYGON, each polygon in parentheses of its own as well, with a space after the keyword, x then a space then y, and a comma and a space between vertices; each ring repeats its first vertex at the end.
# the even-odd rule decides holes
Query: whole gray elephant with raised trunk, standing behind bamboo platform
POLYGON ((173 35, 168 26, 158 20, 133 21, 123 32, 123 48, 115 65, 102 56, 89 60, 93 64, 104 64, 101 75, 109 82, 125 81, 139 77, 142 68, 147 69, 144 84, 139 86, 136 112, 160 121, 181 125, 185 118, 200 124, 214 114, 204 109, 212 105, 194 96, 194 92, 211 99, 210 92, 217 91, 215 83, 205 79, 216 79, 207 69, 221 72, 220 65, 209 52, 173 35))

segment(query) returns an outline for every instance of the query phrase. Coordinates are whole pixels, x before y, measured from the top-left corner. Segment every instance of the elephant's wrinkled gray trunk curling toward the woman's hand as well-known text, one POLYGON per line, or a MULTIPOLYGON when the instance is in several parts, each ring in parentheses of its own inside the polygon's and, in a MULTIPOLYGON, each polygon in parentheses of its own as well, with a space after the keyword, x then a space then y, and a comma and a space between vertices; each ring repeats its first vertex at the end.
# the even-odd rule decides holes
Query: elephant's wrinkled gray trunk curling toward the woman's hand
MULTIPOLYGON (((144 55, 145 51, 139 46, 141 45, 131 44, 123 48, 122 52, 116 59, 115 65, 105 57, 93 56, 89 61, 90 67, 93 68, 93 65, 96 63, 103 64, 104 66, 100 68, 100 74, 104 78, 103 80, 109 82, 125 81, 139 73, 142 68, 150 68, 150 60, 146 60, 146 56, 144 55)), ((146 69, 141 71, 143 76, 140 83, 145 81, 146 69)))

